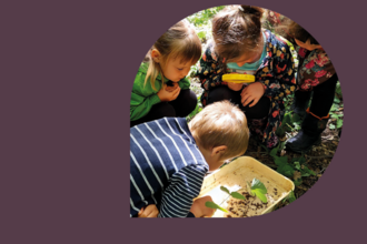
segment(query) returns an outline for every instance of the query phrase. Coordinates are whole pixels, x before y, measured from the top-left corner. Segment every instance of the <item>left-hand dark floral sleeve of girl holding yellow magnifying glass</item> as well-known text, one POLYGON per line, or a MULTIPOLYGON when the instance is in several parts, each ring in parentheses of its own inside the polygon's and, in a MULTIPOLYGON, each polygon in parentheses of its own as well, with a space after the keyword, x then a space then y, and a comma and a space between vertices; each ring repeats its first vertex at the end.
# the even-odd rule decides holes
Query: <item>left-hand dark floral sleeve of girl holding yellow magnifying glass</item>
POLYGON ((201 88, 208 91, 218 85, 227 85, 227 82, 221 80, 225 73, 225 65, 219 63, 210 43, 200 59, 195 77, 200 80, 201 88))

